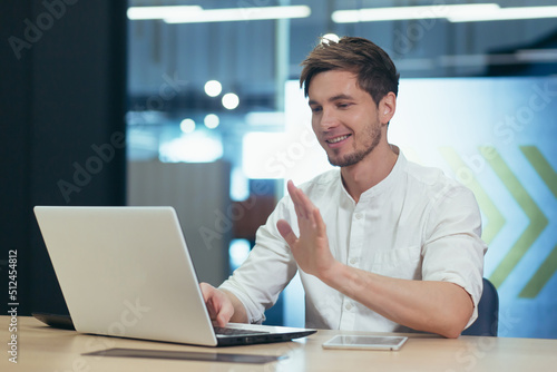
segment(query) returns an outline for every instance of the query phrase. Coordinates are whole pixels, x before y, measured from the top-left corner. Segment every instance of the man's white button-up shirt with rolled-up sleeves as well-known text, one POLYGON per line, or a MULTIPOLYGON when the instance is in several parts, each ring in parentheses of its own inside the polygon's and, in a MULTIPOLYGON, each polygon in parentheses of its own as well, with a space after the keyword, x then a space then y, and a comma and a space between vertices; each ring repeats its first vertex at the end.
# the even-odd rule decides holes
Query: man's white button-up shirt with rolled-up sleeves
MULTIPOLYGON (((408 161, 402 153, 387 178, 358 203, 342 185, 340 169, 300 186, 320 209, 333 256, 372 273, 418 281, 451 282, 477 304, 482 291, 486 244, 473 194, 439 169, 408 161)), ((282 198, 260 227, 246 262, 222 284, 244 304, 250 322, 264 320, 299 271, 289 245, 276 228, 286 219, 299 235, 290 196, 282 198)), ((300 270, 305 291, 307 327, 397 332, 405 327, 379 315, 300 270)))

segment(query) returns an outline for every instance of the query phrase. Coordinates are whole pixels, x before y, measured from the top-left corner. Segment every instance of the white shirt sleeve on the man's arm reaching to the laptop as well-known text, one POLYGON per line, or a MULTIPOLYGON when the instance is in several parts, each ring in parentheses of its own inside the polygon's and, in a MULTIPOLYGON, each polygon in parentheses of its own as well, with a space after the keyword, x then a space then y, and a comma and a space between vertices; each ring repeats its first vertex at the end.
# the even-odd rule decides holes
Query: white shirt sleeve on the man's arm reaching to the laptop
POLYGON ((290 247, 276 228, 281 218, 292 225, 289 200, 290 197, 281 199, 266 224, 257 229, 256 244, 247 260, 219 286, 244 304, 250 323, 265 320, 265 310, 275 304, 297 271, 290 247))

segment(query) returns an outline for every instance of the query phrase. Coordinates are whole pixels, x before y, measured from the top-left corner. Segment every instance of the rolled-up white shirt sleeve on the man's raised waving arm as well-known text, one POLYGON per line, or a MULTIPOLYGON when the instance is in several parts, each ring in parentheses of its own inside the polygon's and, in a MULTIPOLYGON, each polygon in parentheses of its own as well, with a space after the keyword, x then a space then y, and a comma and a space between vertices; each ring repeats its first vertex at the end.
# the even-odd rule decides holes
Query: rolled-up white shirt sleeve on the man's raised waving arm
POLYGON ((450 187, 432 203, 426 226, 422 278, 455 283, 468 292, 473 302, 468 327, 478 317, 487 251, 473 194, 463 186, 450 187))

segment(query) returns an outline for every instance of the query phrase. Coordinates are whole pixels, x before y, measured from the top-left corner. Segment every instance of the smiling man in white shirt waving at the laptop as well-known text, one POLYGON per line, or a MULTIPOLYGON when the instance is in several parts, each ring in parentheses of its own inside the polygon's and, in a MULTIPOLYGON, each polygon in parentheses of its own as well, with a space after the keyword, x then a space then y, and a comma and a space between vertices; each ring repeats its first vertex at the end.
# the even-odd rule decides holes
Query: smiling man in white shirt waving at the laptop
POLYGON ((482 291, 476 199, 388 143, 399 80, 389 56, 362 38, 324 41, 300 81, 340 169, 287 183, 246 262, 218 290, 202 283, 209 314, 218 325, 262 322, 300 271, 309 327, 457 337, 482 291))

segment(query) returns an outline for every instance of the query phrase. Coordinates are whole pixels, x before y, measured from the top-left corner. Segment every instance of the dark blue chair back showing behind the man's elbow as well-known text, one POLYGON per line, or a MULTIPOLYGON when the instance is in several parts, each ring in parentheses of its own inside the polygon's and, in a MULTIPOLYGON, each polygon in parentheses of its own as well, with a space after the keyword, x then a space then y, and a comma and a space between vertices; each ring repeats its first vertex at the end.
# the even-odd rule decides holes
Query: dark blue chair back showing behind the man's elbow
POLYGON ((483 278, 483 293, 478 304, 478 319, 462 335, 497 336, 499 325, 499 295, 497 288, 487 278, 483 278))

